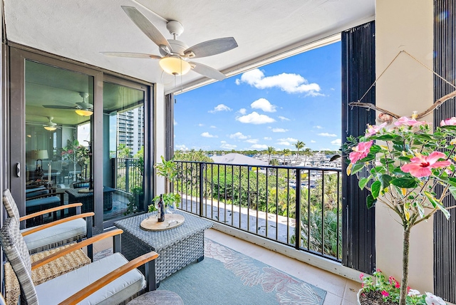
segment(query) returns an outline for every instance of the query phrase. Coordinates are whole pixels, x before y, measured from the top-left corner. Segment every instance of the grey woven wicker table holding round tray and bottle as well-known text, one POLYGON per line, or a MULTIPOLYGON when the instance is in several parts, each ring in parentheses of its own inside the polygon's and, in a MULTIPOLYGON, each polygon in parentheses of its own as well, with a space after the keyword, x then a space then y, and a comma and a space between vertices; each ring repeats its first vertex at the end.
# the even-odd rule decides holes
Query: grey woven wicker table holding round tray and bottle
MULTIPOLYGON (((126 259, 132 260, 150 251, 160 254, 155 259, 155 283, 150 283, 150 290, 155 290, 160 281, 187 264, 204 259, 204 230, 212 227, 212 222, 181 211, 175 213, 184 216, 185 222, 179 227, 157 232, 140 227, 142 220, 150 214, 114 222, 115 227, 123 229, 121 253, 126 259)), ((140 270, 145 274, 144 267, 140 270)), ((153 279, 153 274, 150 275, 153 279)))

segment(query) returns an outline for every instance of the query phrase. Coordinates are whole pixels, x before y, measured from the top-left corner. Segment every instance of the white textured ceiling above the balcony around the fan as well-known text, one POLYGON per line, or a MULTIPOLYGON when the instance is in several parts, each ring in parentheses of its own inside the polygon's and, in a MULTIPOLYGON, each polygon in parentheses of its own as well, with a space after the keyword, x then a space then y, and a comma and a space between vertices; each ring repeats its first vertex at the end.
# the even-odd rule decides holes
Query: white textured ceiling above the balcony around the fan
MULTIPOLYGON (((5 0, 6 38, 26 46, 106 68, 128 76, 164 83, 175 91, 172 76, 162 76, 157 60, 115 58, 102 51, 152 53, 158 47, 120 6, 135 6, 166 38, 167 20, 184 26, 178 38, 193 46, 232 36, 239 47, 195 59, 227 75, 258 66, 299 46, 373 20, 375 0, 5 0)), ((190 71, 182 87, 207 81, 190 71)), ((179 89, 181 79, 178 78, 179 89)))

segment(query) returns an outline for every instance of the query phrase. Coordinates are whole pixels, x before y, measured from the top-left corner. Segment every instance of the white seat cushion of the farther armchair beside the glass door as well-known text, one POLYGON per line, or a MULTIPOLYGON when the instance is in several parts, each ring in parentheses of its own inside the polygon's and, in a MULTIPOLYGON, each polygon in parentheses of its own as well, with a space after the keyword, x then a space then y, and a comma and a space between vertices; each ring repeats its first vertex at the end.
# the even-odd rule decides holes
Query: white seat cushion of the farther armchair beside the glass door
MULTIPOLYGON (((22 229, 22 232, 26 232, 28 229, 22 229)), ((53 227, 42 229, 41 231, 35 232, 24 237, 24 241, 27 244, 28 251, 34 253, 35 249, 40 251, 46 250, 51 247, 56 247, 67 242, 76 241, 76 239, 85 236, 87 233, 86 220, 74 219, 69 222, 63 222, 63 224, 57 224, 53 227)))

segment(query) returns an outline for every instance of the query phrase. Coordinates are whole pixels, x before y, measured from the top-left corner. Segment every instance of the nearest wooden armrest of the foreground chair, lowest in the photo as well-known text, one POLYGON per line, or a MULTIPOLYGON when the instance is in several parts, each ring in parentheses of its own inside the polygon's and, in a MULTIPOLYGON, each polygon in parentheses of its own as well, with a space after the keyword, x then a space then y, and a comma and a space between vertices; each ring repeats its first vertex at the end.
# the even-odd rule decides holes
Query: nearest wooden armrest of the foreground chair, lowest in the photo
POLYGON ((136 269, 140 267, 142 264, 150 262, 152 259, 156 259, 157 257, 158 254, 156 252, 149 252, 144 255, 141 255, 140 257, 131 260, 130 262, 124 264, 118 269, 113 270, 113 272, 106 274, 101 279, 98 279, 86 288, 81 289, 81 291, 76 292, 76 294, 73 294, 68 299, 61 302, 59 305, 77 304, 83 299, 86 299, 86 297, 90 296, 90 294, 93 294, 95 291, 98 291, 101 287, 109 284, 111 281, 118 279, 120 276, 123 276, 123 274, 130 272, 131 270, 136 269))

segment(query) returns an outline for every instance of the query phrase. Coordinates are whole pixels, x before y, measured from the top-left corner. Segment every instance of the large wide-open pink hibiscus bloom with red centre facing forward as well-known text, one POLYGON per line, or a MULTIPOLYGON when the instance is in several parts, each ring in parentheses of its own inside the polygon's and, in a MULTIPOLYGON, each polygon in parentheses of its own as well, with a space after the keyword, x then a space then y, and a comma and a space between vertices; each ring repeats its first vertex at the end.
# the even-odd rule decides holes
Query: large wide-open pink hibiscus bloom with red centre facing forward
POLYGON ((444 153, 433 152, 430 155, 418 155, 410 159, 410 163, 400 167, 403 172, 410 172, 414 177, 429 177, 431 168, 447 167, 451 164, 450 160, 438 161, 446 158, 444 153))

